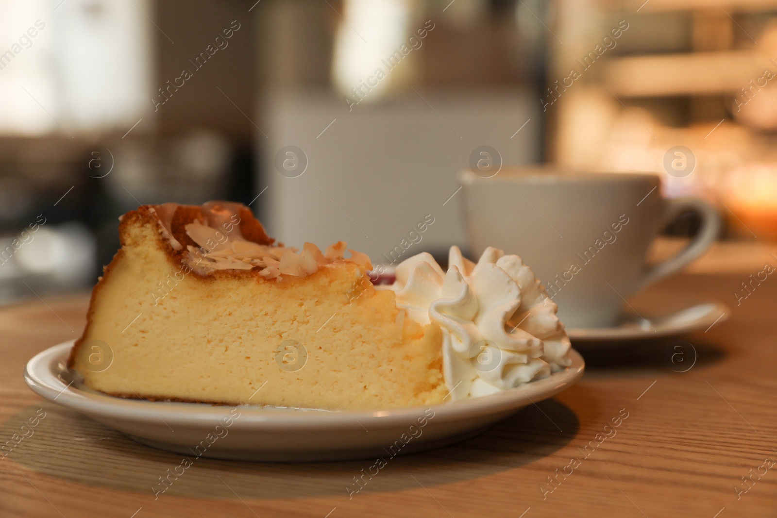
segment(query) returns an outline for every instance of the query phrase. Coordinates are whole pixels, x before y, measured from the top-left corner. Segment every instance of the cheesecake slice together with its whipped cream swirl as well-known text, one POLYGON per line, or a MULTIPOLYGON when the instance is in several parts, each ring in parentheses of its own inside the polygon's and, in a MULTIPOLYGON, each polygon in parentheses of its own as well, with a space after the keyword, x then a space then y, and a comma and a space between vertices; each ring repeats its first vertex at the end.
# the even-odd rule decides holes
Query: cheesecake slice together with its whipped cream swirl
POLYGON ((225 405, 379 409, 507 390, 570 363, 531 269, 487 249, 370 282, 337 242, 270 238, 239 203, 145 205, 92 292, 68 367, 108 395, 225 405))

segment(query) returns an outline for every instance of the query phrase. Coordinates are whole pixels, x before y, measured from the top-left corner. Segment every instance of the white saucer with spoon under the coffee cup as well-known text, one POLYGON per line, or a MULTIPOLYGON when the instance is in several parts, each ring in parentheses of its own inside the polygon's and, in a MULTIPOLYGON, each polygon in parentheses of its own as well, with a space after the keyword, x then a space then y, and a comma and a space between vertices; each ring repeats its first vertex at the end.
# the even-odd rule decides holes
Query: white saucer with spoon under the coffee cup
POLYGON ((567 329, 573 342, 621 342, 625 340, 657 339, 708 330, 720 325, 730 309, 718 301, 669 301, 661 308, 635 303, 618 325, 598 329, 567 329))

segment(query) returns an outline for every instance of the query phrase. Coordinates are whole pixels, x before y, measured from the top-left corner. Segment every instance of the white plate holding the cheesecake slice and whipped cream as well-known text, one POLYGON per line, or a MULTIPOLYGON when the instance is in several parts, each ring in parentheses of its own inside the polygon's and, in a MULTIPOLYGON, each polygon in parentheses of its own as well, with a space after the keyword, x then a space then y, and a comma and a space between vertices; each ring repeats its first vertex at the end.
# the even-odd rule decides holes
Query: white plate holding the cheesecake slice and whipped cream
POLYGON ((243 461, 333 461, 441 447, 558 394, 584 370, 583 358, 573 350, 572 366, 544 380, 429 407, 359 412, 229 407, 114 398, 79 387, 65 367, 72 343, 46 349, 27 363, 24 378, 37 395, 152 447, 243 461), (225 426, 222 419, 231 412, 239 417, 225 426))

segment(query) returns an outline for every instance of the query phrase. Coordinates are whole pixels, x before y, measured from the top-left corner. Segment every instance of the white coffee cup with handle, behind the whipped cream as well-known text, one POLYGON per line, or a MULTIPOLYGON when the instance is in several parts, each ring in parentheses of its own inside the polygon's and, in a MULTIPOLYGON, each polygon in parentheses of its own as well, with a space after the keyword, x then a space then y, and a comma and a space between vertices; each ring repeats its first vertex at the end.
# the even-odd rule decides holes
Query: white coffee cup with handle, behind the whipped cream
POLYGON ((666 199, 652 173, 502 171, 460 179, 472 252, 521 256, 559 305, 567 328, 615 325, 625 297, 688 265, 715 242, 720 214, 700 198, 666 199), (647 266, 650 243, 681 211, 699 233, 676 256, 647 266))

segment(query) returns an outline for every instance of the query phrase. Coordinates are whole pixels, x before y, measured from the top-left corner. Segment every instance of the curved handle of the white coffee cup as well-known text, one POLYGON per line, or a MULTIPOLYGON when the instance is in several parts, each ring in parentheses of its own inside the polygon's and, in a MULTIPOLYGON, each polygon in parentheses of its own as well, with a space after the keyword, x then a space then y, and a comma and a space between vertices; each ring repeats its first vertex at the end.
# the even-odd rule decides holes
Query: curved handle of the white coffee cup
POLYGON ((684 210, 694 210, 702 218, 702 228, 688 246, 676 256, 651 266, 643 274, 639 289, 655 283, 693 262, 713 245, 720 234, 720 212, 706 200, 695 197, 683 197, 667 200, 664 213, 664 225, 671 223, 684 210))

